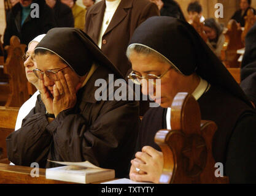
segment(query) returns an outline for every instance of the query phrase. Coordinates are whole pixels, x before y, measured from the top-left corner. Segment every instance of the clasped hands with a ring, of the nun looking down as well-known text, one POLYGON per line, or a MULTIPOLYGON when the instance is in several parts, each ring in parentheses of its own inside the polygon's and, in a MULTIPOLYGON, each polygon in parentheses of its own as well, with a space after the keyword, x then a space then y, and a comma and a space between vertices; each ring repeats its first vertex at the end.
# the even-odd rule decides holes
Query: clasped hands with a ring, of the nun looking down
POLYGON ((159 183, 163 171, 163 153, 151 146, 144 146, 142 152, 135 154, 131 160, 130 179, 133 181, 148 181, 159 183), (136 171, 135 168, 141 171, 136 171))

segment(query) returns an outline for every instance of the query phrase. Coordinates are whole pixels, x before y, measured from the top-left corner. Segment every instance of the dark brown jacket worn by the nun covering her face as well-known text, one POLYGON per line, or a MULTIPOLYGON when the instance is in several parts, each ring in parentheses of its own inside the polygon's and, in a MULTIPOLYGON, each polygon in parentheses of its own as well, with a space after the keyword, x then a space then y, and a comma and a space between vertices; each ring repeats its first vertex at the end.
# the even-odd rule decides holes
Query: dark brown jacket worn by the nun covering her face
POLYGON ((138 102, 106 101, 98 118, 89 123, 82 113, 64 110, 48 123, 43 103, 32 110, 21 129, 7 139, 11 162, 30 166, 56 167, 47 159, 82 162, 90 161, 103 168, 115 168, 117 177, 125 176, 138 135, 138 102), (137 115, 136 115, 137 114, 137 115))

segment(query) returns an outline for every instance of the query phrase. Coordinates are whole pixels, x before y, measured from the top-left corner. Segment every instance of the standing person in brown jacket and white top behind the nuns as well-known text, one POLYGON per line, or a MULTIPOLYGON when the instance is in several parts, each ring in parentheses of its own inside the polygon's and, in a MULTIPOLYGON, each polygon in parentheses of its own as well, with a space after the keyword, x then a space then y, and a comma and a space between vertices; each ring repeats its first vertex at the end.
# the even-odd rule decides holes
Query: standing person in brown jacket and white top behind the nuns
MULTIPOLYGON (((134 30, 158 15, 158 7, 149 0, 104 0, 88 10, 84 31, 125 77, 131 68, 125 51, 134 30)), ((140 101, 140 115, 148 107, 147 101, 140 101)))

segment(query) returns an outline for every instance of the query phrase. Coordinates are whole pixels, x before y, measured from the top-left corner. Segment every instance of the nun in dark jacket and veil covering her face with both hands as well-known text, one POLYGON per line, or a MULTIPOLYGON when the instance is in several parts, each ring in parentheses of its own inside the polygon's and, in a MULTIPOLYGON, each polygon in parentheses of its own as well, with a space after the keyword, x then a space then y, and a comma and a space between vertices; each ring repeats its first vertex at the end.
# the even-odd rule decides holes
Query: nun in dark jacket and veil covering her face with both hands
POLYGON ((109 81, 109 74, 122 78, 117 68, 76 28, 48 31, 35 58, 41 94, 21 128, 6 138, 8 159, 42 168, 60 166, 47 159, 88 160, 115 169, 118 178, 128 175, 138 136, 138 102, 99 100, 95 85, 98 79, 109 81))

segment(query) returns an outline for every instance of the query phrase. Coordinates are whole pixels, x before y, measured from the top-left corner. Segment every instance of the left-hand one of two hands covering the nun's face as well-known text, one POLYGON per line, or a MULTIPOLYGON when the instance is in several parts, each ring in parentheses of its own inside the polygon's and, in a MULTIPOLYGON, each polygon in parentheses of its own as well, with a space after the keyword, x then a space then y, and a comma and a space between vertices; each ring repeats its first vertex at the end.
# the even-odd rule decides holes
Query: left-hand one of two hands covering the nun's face
POLYGON ((44 80, 39 80, 39 91, 42 102, 44 102, 45 109, 48 113, 53 114, 53 98, 48 89, 44 86, 44 80))

